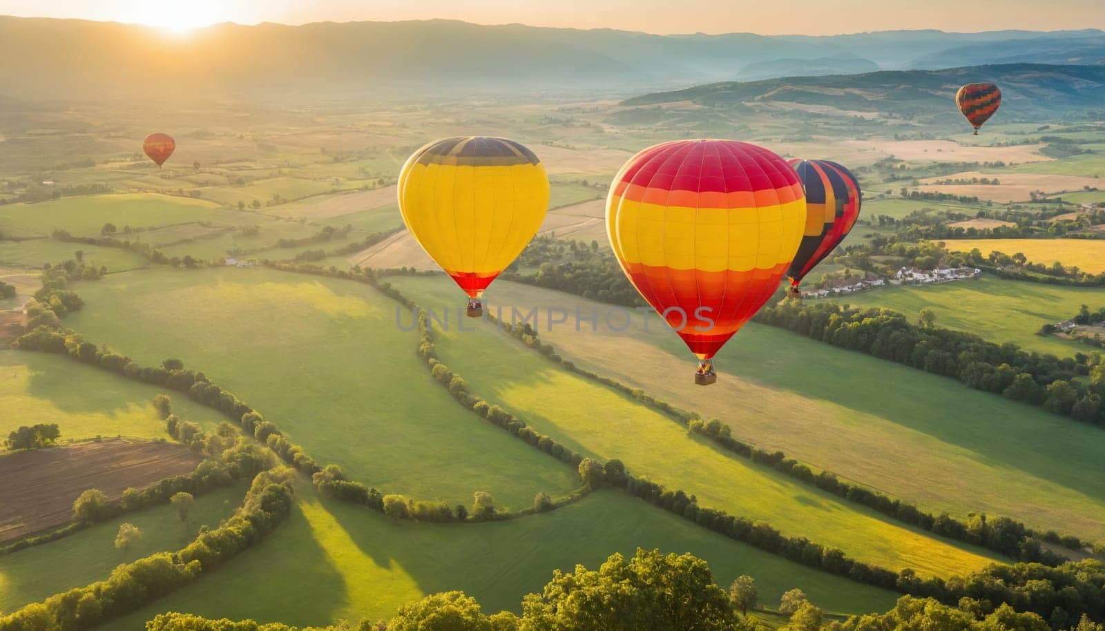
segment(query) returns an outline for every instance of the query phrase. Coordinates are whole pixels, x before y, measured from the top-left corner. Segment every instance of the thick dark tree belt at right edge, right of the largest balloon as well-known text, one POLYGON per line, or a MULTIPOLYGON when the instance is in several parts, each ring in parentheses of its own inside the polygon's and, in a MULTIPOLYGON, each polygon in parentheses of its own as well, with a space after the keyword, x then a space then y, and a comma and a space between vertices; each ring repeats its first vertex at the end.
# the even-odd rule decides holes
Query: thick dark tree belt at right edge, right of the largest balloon
POLYGON ((1077 421, 1103 424, 1105 382, 1085 385, 1085 356, 1059 359, 1027 353, 1015 344, 997 345, 977 335, 915 325, 885 308, 841 308, 831 303, 788 301, 761 309, 757 322, 813 339, 959 379, 965 385, 1027 403, 1043 406, 1077 421))

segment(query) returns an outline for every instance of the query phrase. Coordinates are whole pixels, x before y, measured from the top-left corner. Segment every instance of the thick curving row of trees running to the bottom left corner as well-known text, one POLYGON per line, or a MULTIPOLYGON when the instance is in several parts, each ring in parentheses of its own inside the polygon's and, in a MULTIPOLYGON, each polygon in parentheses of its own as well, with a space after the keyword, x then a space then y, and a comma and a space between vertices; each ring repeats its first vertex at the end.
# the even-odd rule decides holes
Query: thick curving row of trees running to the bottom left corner
POLYGON ((183 549, 120 565, 106 580, 0 617, 0 631, 84 631, 179 589, 255 545, 287 517, 293 478, 290 469, 257 474, 242 508, 183 549))

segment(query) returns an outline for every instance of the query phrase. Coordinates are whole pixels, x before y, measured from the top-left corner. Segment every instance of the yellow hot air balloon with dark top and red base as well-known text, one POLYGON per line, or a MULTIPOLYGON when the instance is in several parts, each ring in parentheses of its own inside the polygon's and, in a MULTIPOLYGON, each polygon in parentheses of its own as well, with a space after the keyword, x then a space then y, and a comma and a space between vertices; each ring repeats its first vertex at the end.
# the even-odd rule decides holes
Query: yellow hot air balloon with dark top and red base
POLYGON ((514 140, 467 136, 414 151, 399 175, 407 229, 483 314, 484 290, 537 234, 549 204, 545 167, 514 140))

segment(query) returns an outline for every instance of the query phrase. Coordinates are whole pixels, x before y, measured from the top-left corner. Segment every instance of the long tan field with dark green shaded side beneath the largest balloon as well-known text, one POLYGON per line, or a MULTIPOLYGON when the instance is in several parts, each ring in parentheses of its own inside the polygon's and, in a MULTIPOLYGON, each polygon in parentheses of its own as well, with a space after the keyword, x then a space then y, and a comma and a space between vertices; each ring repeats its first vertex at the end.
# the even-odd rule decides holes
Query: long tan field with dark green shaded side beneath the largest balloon
MULTIPOLYGON (((449 304, 444 299, 449 278, 393 281, 425 306, 449 304)), ((878 292, 859 296, 875 299, 878 292)), ((1105 481, 1095 473, 1105 458, 1098 428, 971 390, 953 379, 758 325, 747 326, 723 349, 716 387, 701 388, 692 382, 693 356, 659 318, 650 318, 645 332, 641 315, 634 313, 632 326, 614 333, 611 327, 622 326, 624 312, 611 312, 600 303, 502 281, 492 285, 487 297, 492 305, 504 306, 505 317, 511 306, 523 313, 535 306, 566 309, 572 314, 566 325, 546 330, 545 311, 540 322, 541 338, 565 358, 704 418, 719 417, 737 438, 780 449, 933 512, 964 517, 985 511, 1105 540, 1099 517, 1105 512, 1105 481), (576 330, 577 308, 583 317, 599 314, 598 332, 586 322, 581 332, 576 330), (611 325, 606 324, 608 314, 611 325)), ((937 324, 943 322, 938 316, 937 324)), ((475 382, 486 370, 463 372, 475 382)), ((549 375, 549 368, 539 375, 549 375)), ((554 375, 562 380, 559 372, 554 375)), ((526 390, 541 385, 538 379, 511 378, 492 387, 499 396, 522 401, 526 390)), ((634 422, 627 432, 639 431, 636 427, 634 422)), ((701 471, 698 464, 688 466, 691 472, 701 471)), ((664 480, 659 474, 656 478, 664 480)))

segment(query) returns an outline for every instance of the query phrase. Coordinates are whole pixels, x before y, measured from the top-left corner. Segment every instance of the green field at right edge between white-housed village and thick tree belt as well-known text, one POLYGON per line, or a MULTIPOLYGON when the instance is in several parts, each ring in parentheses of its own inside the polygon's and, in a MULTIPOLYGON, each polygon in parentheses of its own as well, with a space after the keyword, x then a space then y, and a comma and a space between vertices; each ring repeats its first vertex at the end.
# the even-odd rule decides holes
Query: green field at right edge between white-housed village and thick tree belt
POLYGON ((974 281, 862 292, 846 299, 841 298, 841 302, 864 307, 888 307, 911 318, 927 307, 936 312, 938 326, 974 333, 998 344, 1012 341, 1028 350, 1069 357, 1080 351, 1088 353, 1093 347, 1055 336, 1040 336, 1036 332, 1046 323, 1074 317, 1082 305, 1088 305, 1091 309, 1105 306, 1105 290, 1007 281, 983 275, 974 281))

